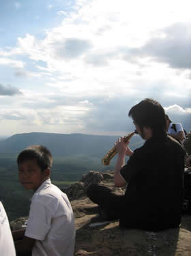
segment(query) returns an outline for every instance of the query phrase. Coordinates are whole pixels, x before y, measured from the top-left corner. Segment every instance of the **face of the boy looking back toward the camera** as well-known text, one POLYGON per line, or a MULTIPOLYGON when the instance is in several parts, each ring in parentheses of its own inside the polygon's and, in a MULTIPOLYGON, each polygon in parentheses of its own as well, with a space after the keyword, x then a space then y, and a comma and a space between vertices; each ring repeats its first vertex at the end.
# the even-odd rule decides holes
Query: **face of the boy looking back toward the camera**
POLYGON ((41 171, 35 159, 24 160, 18 165, 18 180, 27 190, 37 190, 48 179, 49 169, 41 171))

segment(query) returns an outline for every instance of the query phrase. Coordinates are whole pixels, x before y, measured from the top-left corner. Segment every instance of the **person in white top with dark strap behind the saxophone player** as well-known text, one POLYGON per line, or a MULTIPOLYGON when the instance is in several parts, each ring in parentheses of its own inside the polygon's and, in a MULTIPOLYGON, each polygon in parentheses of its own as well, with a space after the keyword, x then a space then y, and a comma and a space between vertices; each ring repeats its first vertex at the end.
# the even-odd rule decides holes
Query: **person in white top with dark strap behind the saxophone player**
POLYGON ((172 123, 168 115, 165 115, 166 118, 166 132, 169 136, 173 137, 181 144, 183 144, 184 139, 186 139, 183 127, 180 123, 172 123))

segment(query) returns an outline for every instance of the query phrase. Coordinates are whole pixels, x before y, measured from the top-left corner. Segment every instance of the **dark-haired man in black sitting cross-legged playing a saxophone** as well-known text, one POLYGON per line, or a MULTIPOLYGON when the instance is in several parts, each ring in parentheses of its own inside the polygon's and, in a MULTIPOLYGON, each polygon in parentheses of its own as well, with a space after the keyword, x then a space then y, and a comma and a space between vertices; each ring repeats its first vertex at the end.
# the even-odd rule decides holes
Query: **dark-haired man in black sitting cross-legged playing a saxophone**
POLYGON ((87 196, 98 203, 100 216, 119 218, 120 227, 160 231, 178 227, 183 200, 185 151, 166 134, 166 120, 161 104, 145 99, 129 111, 143 146, 130 150, 126 139, 116 141, 115 186, 125 186, 117 195, 110 188, 91 184, 87 196), (125 156, 130 156, 125 165, 125 156))

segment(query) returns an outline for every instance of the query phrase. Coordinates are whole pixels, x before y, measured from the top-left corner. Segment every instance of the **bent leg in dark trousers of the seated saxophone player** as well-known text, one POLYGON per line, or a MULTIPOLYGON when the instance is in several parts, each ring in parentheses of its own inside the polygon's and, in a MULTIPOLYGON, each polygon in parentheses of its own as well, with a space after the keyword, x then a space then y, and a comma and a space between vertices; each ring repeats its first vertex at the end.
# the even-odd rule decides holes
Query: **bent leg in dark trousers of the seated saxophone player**
POLYGON ((91 184, 87 188, 87 197, 99 205, 100 217, 111 221, 120 218, 124 207, 124 196, 106 186, 91 184))

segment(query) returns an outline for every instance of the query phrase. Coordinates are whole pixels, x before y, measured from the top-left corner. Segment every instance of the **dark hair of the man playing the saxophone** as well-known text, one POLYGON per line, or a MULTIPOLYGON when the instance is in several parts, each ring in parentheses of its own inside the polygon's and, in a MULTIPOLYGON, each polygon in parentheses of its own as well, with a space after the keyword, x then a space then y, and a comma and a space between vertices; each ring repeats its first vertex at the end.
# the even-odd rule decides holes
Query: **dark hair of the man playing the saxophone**
POLYGON ((164 134, 166 131, 166 119, 164 109, 156 100, 146 98, 130 109, 130 117, 143 131, 143 127, 149 127, 153 136, 164 134))

